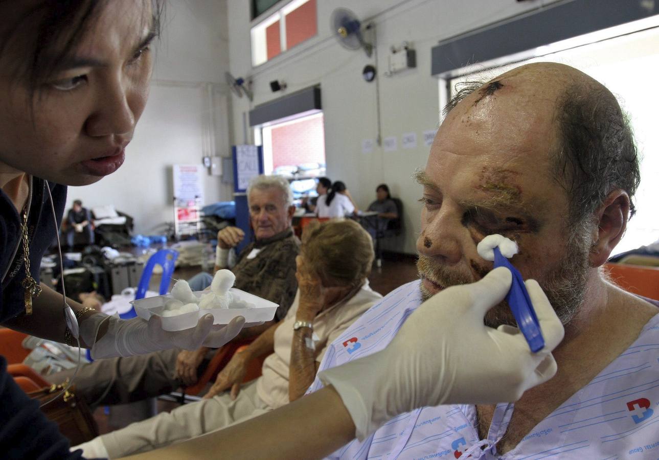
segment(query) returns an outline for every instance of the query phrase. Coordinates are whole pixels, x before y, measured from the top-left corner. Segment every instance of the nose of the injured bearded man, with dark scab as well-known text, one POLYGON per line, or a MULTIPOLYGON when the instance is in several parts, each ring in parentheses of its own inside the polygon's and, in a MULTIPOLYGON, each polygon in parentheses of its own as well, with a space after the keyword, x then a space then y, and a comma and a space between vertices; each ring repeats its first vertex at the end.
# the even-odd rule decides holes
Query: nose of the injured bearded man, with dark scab
POLYGON ((422 216, 423 231, 416 240, 416 249, 422 256, 439 259, 447 265, 457 264, 462 259, 459 216, 449 209, 422 216))

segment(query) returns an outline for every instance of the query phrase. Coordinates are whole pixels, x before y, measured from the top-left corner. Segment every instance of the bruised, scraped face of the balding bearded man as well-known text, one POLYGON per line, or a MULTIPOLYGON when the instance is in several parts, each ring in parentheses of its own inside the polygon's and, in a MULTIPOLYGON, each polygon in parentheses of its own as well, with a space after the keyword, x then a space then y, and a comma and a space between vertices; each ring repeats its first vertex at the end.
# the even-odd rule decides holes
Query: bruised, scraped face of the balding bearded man
MULTIPOLYGON (((525 279, 537 279, 559 316, 569 320, 585 289, 588 251, 569 243, 567 196, 552 177, 552 110, 542 88, 529 92, 515 78, 502 78, 449 113, 418 176, 424 297, 492 270, 476 244, 500 233, 519 245, 513 265, 525 279)), ((502 303, 486 323, 514 324, 514 318, 502 303)))

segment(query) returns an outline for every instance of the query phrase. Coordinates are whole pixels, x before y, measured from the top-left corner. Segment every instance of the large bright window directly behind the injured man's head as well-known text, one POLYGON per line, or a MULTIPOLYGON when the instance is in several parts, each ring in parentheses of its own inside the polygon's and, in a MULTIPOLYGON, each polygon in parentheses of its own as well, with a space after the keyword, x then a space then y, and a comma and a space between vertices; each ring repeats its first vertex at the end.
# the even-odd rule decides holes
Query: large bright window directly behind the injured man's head
MULTIPOLYGON (((627 223, 627 233, 616 246, 614 254, 659 240, 659 219, 656 215, 659 181, 654 177, 656 171, 659 171, 659 156, 656 155, 659 151, 659 130, 655 127, 656 106, 648 99, 646 84, 639 84, 652 82, 659 72, 659 27, 563 49, 488 71, 476 71, 448 82, 440 80, 440 94, 450 97, 457 82, 488 79, 519 65, 537 61, 559 62, 576 67, 616 95, 629 116, 635 134, 641 156, 641 186, 635 196, 637 214, 627 223), (446 83, 447 86, 442 88, 446 83)), ((440 102, 445 102, 445 98, 440 98, 440 102)))

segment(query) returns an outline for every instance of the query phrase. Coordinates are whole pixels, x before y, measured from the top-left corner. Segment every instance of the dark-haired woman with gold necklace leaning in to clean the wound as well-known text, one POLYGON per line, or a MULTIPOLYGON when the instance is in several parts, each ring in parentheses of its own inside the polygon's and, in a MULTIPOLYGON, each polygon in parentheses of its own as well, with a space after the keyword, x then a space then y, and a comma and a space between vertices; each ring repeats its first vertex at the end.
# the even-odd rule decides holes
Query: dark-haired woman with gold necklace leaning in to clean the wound
MULTIPOLYGON (((67 185, 95 183, 124 161, 148 95, 160 11, 150 0, 0 2, 0 322, 91 348, 96 359, 221 346, 244 323, 213 326, 206 315, 196 328, 171 333, 158 318, 120 320, 39 282, 67 185)), ((80 457, 16 386, 4 357, 0 452, 80 457)))

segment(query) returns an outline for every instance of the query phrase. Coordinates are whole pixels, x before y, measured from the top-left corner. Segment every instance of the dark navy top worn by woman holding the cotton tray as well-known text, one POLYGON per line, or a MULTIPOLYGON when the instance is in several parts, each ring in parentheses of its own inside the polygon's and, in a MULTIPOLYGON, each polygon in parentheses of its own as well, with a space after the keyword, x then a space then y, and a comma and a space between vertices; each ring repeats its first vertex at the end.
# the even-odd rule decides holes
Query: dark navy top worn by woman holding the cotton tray
MULTIPOLYGON (((32 180, 32 200, 28 216, 30 272, 39 281, 41 259, 59 229, 67 187, 47 183, 53 194, 57 222, 53 219, 46 183, 32 180)), ((14 204, 0 190, 0 322, 25 311, 25 278, 20 223, 14 204), (9 268, 9 271, 7 270, 9 268), (5 272, 7 275, 5 275, 5 272)), ((64 322, 62 322, 64 327, 64 322)), ((80 459, 82 451, 69 452, 69 440, 62 436, 55 422, 49 421, 39 403, 27 397, 7 373, 7 361, 0 357, 0 457, 3 459, 80 459)))

